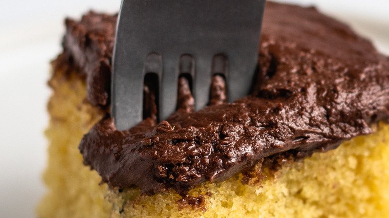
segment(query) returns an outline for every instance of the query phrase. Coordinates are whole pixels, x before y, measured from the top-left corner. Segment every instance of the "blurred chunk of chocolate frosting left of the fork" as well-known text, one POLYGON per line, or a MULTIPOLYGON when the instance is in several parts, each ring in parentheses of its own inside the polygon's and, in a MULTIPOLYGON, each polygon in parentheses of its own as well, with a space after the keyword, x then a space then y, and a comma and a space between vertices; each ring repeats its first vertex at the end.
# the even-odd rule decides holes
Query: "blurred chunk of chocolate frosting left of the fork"
POLYGON ((111 60, 117 16, 90 11, 77 22, 65 20, 64 59, 74 62, 86 74, 88 100, 109 105, 111 60))

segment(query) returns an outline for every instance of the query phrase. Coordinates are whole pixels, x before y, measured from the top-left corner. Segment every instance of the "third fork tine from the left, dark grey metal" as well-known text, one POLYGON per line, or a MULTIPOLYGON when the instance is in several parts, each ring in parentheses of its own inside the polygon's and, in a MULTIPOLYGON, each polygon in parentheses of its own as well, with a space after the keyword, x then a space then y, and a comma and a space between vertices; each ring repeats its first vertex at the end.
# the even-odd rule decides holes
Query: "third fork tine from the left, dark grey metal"
POLYGON ((213 54, 195 55, 194 108, 199 110, 208 104, 213 54))

